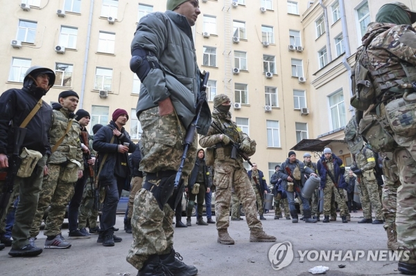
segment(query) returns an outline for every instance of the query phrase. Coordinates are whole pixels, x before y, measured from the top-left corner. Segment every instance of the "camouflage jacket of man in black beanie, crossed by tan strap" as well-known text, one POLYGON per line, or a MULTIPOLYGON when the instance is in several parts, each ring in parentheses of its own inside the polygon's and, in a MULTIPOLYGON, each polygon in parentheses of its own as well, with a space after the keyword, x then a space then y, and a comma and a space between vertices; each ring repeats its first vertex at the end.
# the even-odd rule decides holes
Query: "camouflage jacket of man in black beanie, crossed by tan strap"
POLYGON ((55 146, 56 142, 64 135, 70 120, 72 125, 58 149, 49 157, 48 164, 61 164, 67 162, 67 160, 75 159, 81 164, 80 169, 84 169, 83 151, 81 151, 80 142, 80 125, 73 118, 69 118, 70 114, 71 112, 64 107, 57 109, 54 106, 52 126, 49 129, 51 147, 55 146))

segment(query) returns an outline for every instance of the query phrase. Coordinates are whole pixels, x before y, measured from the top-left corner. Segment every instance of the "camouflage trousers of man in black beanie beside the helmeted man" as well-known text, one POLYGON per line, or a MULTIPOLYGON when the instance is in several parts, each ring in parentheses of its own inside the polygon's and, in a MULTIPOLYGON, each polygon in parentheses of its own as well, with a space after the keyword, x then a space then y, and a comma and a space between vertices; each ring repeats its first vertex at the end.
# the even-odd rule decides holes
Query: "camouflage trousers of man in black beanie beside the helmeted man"
POLYGON ((55 236, 60 234, 60 227, 64 222, 69 196, 73 193, 74 183, 62 181, 66 166, 49 164, 48 168, 49 173, 43 180, 42 192, 40 192, 35 219, 30 231, 31 237, 36 237, 39 234, 42 217, 49 205, 51 205, 51 209, 49 209, 45 222, 45 229, 47 229, 44 230, 44 235, 55 236))

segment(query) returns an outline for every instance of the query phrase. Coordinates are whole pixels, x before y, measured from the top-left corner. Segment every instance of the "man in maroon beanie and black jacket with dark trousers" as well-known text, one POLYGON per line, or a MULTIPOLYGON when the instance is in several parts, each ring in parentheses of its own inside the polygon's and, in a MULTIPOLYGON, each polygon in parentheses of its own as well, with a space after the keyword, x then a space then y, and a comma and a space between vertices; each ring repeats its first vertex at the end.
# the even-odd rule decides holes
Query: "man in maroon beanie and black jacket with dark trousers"
POLYGON ((127 120, 127 111, 116 109, 112 113, 110 124, 98 130, 92 144, 93 149, 98 152, 98 181, 100 187, 105 187, 101 230, 97 240, 102 242, 103 246, 114 246, 114 241, 121 241, 121 238, 114 236, 113 227, 116 224, 116 210, 121 190, 131 175, 128 152, 136 150, 135 143, 130 140, 130 135, 123 127, 127 120))

